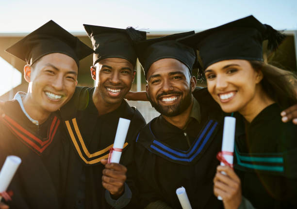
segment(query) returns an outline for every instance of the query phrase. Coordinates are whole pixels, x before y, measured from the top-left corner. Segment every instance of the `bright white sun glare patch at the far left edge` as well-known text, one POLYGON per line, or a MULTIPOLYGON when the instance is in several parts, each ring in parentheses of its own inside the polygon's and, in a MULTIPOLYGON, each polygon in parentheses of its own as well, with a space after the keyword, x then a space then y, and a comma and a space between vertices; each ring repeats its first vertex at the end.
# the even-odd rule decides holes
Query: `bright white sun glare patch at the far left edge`
POLYGON ((21 83, 22 74, 0 57, 0 69, 5 71, 5 76, 0 76, 0 95, 13 89, 21 83))

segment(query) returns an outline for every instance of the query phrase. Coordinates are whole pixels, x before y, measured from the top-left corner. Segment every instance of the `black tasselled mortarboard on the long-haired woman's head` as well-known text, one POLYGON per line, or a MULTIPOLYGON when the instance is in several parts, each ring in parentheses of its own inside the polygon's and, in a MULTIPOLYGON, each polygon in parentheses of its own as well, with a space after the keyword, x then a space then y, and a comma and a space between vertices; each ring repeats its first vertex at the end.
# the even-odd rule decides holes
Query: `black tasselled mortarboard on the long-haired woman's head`
POLYGON ((263 61, 263 41, 268 39, 268 49, 274 50, 283 38, 284 35, 279 31, 250 15, 178 41, 197 48, 206 69, 221 60, 263 61))

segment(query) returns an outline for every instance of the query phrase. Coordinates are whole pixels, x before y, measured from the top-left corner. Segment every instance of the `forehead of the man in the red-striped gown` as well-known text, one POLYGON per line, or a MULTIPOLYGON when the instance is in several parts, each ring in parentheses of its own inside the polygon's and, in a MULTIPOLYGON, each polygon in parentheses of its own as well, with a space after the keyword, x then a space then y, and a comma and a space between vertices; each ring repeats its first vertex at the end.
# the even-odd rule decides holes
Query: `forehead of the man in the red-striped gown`
POLYGON ((37 61, 36 66, 42 68, 47 64, 51 64, 59 70, 78 72, 76 61, 66 54, 52 53, 45 55, 37 61))

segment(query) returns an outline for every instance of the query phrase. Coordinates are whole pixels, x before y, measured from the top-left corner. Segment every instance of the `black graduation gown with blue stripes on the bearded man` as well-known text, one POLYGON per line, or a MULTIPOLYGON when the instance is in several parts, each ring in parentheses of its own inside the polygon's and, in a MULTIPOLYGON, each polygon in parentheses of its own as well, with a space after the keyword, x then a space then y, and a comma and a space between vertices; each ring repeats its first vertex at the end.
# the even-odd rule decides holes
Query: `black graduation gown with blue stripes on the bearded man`
MULTIPOLYGON (((183 131, 162 122, 160 116, 138 135, 135 161, 143 208, 161 200, 181 209, 176 195, 176 189, 181 186, 186 189, 192 208, 222 208, 222 202, 213 194, 213 179, 219 164, 215 156, 222 144, 223 113, 207 89, 196 90, 194 97, 200 104, 201 121, 196 129, 192 127, 189 131, 194 135, 190 137, 190 149, 182 148, 182 143, 187 145, 183 131), (166 139, 160 137, 166 133, 169 135, 166 139)), ((187 127, 193 126, 192 122, 195 119, 187 127)))

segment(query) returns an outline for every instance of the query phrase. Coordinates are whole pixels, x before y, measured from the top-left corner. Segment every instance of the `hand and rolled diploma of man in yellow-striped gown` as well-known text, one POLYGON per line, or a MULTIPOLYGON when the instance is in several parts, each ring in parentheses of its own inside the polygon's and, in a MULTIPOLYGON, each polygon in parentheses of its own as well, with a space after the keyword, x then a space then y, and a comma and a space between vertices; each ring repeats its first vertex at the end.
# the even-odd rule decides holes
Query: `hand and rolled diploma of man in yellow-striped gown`
POLYGON ((105 165, 105 169, 102 172, 102 186, 115 197, 120 196, 124 192, 124 185, 127 178, 127 168, 119 164, 119 161, 129 125, 129 119, 119 119, 115 134, 115 143, 110 150, 109 158, 108 160, 101 160, 101 164, 105 165))

